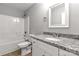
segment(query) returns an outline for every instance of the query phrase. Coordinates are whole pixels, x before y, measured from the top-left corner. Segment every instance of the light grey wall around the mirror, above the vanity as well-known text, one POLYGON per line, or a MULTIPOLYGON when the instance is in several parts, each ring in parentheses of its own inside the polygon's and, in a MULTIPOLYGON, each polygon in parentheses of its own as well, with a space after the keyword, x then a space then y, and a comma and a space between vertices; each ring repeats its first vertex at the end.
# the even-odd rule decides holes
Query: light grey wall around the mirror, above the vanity
POLYGON ((30 33, 59 32, 67 34, 79 34, 79 4, 70 3, 69 6, 69 28, 48 28, 48 19, 44 22, 43 17, 47 17, 48 9, 43 4, 36 4, 26 14, 30 16, 30 33))

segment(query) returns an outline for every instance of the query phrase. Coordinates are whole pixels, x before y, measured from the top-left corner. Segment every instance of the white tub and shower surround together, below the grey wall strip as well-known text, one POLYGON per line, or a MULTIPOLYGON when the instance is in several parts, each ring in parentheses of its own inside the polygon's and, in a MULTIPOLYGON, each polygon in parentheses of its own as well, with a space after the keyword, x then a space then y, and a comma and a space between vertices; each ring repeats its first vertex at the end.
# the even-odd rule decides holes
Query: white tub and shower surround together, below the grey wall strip
POLYGON ((23 39, 24 19, 0 15, 0 55, 18 49, 17 44, 23 39), (18 22, 14 20, 18 19, 18 22))

